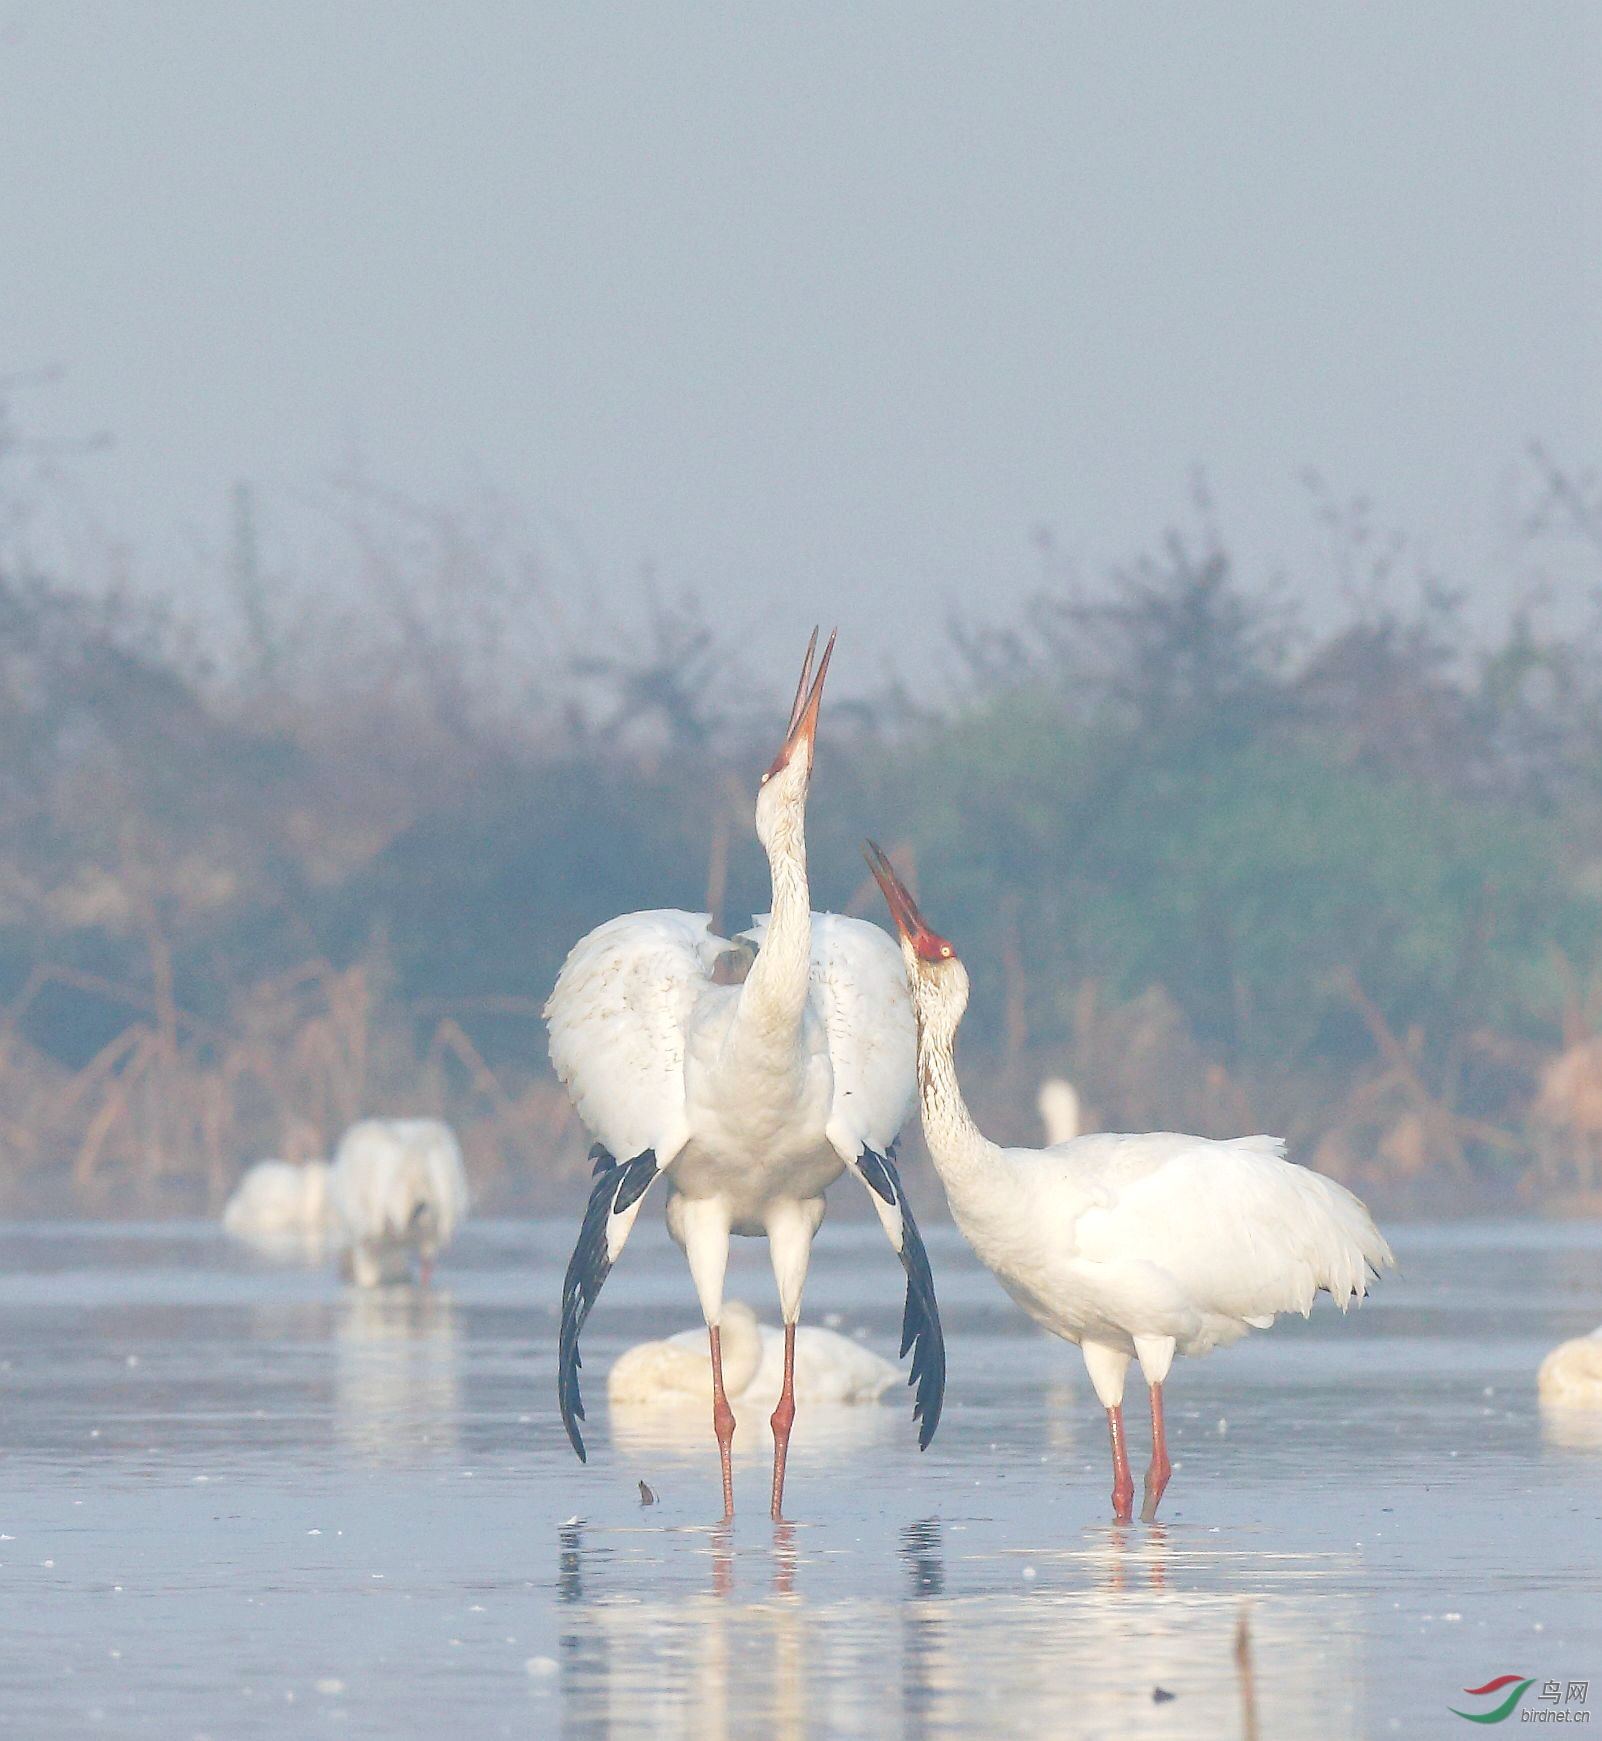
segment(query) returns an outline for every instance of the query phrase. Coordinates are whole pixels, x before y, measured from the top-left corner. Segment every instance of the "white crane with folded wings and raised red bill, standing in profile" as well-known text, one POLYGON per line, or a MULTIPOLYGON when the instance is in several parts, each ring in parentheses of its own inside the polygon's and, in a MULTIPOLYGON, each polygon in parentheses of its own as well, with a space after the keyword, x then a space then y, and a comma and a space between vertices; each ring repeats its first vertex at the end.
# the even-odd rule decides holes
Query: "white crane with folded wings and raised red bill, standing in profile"
POLYGON ((1151 1389, 1151 1466, 1141 1516, 1156 1516, 1172 1473, 1163 1381, 1174 1354, 1205 1354, 1306 1316, 1325 1290, 1344 1311, 1369 1273, 1395 1264, 1367 1208, 1283 1160, 1276 1137, 1212 1142, 1175 1132, 1092 1135, 1052 1149, 1001 1149, 963 1104, 956 1031, 968 971, 918 912, 890 860, 869 865, 900 931, 918 1018, 923 1133, 951 1213, 979 1260, 1043 1328, 1078 1342, 1113 1442, 1113 1513, 1128 1518, 1123 1443, 1130 1360, 1151 1389))

